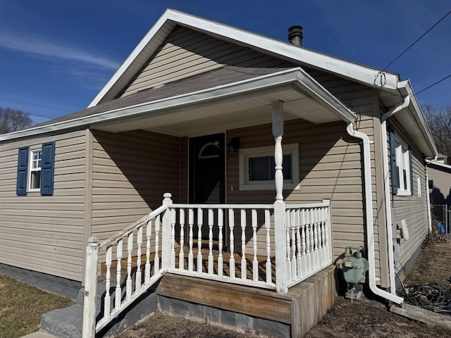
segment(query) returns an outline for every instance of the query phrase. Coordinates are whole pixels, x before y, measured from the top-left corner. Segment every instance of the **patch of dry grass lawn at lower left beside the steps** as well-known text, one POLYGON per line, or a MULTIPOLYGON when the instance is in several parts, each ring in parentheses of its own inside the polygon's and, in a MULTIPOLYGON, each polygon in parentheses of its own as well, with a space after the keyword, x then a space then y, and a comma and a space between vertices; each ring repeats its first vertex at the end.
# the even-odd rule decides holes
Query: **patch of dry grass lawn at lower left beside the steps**
POLYGON ((14 278, 0 275, 0 338, 22 337, 39 330, 42 313, 74 303, 14 278))

